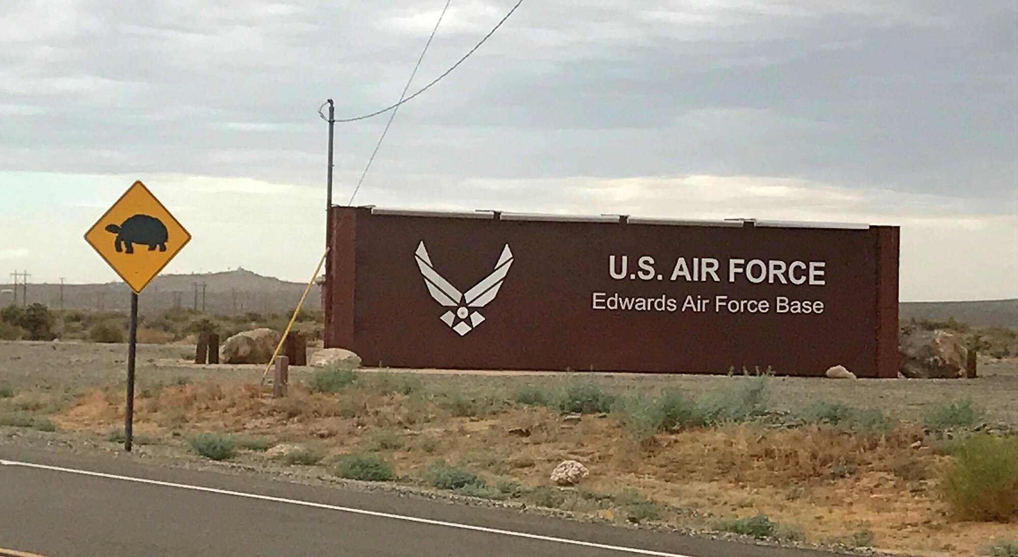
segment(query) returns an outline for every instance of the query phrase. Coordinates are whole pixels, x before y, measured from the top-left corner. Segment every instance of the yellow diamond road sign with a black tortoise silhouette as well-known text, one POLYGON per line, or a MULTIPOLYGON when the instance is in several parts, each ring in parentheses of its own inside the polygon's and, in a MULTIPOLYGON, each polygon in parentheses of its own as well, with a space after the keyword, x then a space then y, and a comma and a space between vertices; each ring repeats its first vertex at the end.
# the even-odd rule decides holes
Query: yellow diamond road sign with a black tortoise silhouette
POLYGON ((184 245, 190 234, 136 181, 86 234, 106 263, 140 293, 184 245))

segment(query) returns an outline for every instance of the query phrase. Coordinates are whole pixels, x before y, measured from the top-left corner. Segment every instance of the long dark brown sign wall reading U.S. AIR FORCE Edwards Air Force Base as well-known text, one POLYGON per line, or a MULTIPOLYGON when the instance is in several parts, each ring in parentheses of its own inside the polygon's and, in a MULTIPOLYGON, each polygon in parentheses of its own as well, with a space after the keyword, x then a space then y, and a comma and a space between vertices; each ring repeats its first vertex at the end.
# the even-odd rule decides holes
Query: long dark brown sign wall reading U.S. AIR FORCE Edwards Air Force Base
POLYGON ((469 217, 334 208, 327 345, 398 368, 897 375, 897 227, 469 217))

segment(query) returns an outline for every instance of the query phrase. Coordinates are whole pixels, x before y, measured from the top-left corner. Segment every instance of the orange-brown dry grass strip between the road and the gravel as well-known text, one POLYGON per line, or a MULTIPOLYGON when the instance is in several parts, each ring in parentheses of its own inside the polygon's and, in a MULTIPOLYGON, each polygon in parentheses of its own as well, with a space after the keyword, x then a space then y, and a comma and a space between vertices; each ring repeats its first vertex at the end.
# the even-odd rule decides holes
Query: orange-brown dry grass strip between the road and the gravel
MULTIPOLYGON (((957 522, 946 512, 930 470, 951 457, 913 448, 923 437, 914 426, 857 435, 750 421, 639 439, 616 412, 576 422, 557 404, 471 401, 425 395, 392 378, 375 381, 358 379, 339 392, 295 385, 276 400, 251 385, 154 387, 137 401, 137 429, 162 438, 216 431, 312 443, 322 464, 377 455, 396 477, 416 482, 443 460, 476 476, 475 489, 462 494, 521 498, 619 521, 710 527, 762 512, 800 525, 807 540, 854 539, 865 531, 878 548, 930 555, 974 554, 986 539, 1014 532, 1009 524, 957 522), (590 468, 581 491, 550 485, 551 470, 564 459, 590 468), (618 495, 634 489, 638 498, 618 495)), ((63 430, 105 432, 122 412, 122 390, 93 390, 52 420, 63 430)))

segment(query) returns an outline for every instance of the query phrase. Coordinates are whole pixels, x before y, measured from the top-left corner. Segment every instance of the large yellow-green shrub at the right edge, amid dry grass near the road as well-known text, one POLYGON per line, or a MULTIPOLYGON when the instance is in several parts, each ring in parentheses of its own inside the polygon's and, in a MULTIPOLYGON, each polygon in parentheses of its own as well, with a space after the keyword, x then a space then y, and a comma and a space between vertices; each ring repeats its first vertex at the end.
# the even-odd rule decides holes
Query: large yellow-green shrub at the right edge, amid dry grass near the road
POLYGON ((949 452, 941 492, 959 518, 1007 521, 1018 513, 1018 439, 972 435, 949 452))

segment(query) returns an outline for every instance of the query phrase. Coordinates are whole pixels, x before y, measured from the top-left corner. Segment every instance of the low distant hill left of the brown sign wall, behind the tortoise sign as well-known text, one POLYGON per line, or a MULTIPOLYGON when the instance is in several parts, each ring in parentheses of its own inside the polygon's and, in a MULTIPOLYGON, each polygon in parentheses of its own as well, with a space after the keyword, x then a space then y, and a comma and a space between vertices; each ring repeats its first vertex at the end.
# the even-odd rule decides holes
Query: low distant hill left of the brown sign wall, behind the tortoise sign
MULTIPOLYGON (((233 315, 242 312, 288 313, 300 300, 306 284, 286 282, 238 269, 223 273, 194 275, 162 275, 156 277, 144 292, 138 303, 140 313, 147 315, 174 307, 197 309, 210 314, 233 315)), ((0 285, 0 290, 11 288, 0 285)), ((18 303, 21 302, 20 287, 18 303)), ((10 303, 11 294, 3 293, 0 304, 10 303)), ((312 286, 304 308, 322 309, 322 288, 312 286)), ((59 284, 29 284, 29 303, 42 302, 59 309, 59 284)), ((63 308, 127 312, 130 309, 130 289, 122 283, 65 284, 63 308)))

